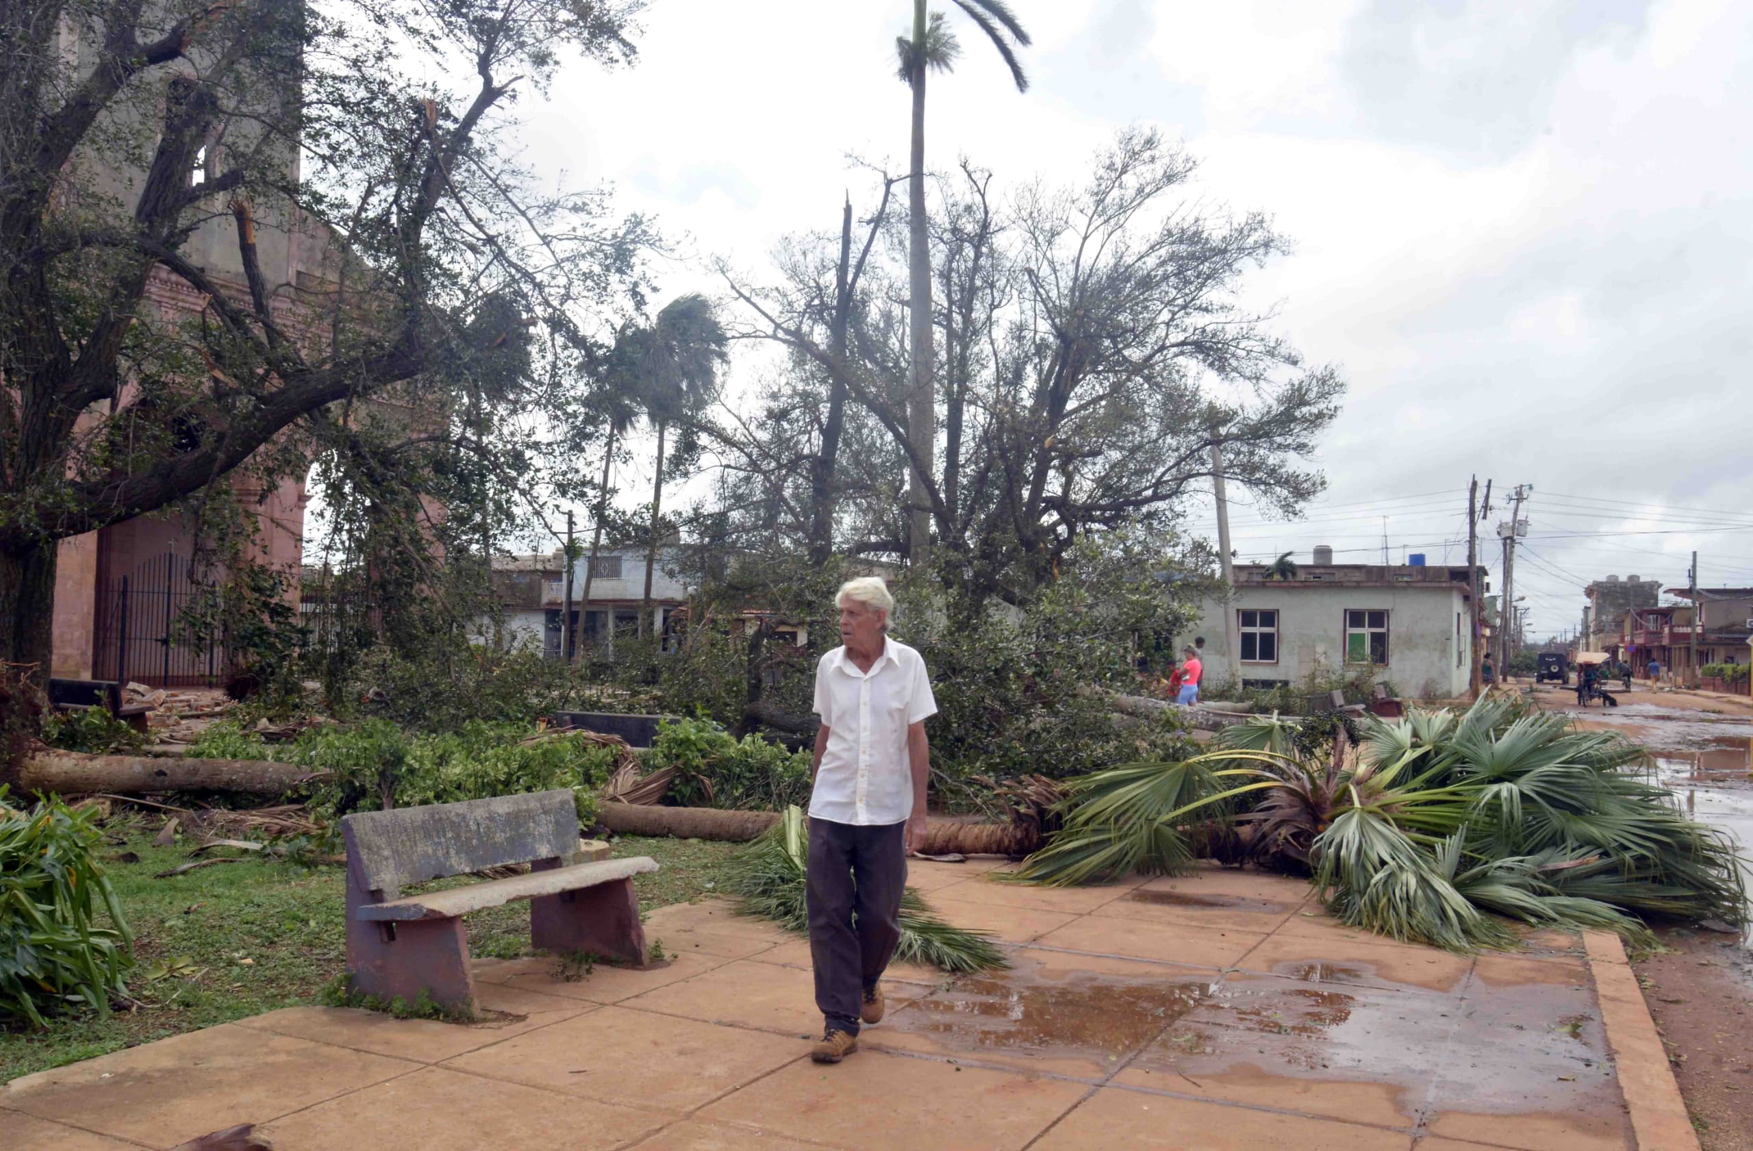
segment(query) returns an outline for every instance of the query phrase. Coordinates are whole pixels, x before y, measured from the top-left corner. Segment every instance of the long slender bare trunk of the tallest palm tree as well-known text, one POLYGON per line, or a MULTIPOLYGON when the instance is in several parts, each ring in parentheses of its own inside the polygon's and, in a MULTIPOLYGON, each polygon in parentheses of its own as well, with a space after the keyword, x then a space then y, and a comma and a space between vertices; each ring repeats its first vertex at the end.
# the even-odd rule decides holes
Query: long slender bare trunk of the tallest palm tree
POLYGON ((913 345, 906 438, 919 455, 919 466, 908 468, 906 480, 906 554, 913 564, 922 562, 931 550, 931 498, 926 494, 926 477, 920 475, 920 468, 931 468, 936 443, 936 398, 931 389, 931 247, 926 228, 926 0, 913 0, 913 170, 906 182, 908 336, 913 345))

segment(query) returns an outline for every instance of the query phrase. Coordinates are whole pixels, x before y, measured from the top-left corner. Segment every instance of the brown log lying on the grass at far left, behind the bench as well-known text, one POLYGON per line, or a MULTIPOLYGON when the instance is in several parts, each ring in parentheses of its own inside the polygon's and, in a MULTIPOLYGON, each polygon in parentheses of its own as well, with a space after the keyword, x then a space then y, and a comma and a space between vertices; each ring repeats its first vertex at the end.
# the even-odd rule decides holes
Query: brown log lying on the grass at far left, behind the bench
POLYGON ((147 755, 84 755, 81 752, 37 752, 25 760, 19 792, 88 795, 163 795, 165 792, 242 792, 280 795, 300 783, 321 778, 298 764, 265 759, 154 759, 147 755))

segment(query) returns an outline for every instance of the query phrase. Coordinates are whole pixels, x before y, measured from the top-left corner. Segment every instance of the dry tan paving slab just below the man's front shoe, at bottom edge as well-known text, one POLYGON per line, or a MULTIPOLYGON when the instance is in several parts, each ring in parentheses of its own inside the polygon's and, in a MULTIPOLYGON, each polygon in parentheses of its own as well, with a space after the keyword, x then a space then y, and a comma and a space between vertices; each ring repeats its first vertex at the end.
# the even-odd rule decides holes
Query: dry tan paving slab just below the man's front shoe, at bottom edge
POLYGON ((868 1049, 831 1067, 791 1063, 705 1107, 698 1118, 850 1151, 1015 1151, 1089 1090, 1066 1079, 957 1069, 868 1049))

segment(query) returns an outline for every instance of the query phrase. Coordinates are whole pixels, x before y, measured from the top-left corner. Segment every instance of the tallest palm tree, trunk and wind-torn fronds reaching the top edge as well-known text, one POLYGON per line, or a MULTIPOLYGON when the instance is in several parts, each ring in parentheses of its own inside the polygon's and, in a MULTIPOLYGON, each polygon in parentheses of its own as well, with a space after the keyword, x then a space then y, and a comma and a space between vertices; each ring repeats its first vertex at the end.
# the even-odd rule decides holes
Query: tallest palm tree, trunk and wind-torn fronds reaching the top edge
MULTIPOLYGON (((1024 75, 1013 46, 1027 46, 1029 33, 1024 32, 1010 5, 1004 0, 952 0, 952 4, 992 40, 992 47, 1004 58, 1011 79, 1017 81, 1017 91, 1027 91, 1029 77, 1024 75)), ((913 345, 913 363, 912 387, 906 398, 906 438, 917 455, 917 466, 908 470, 906 496, 910 505, 908 557, 919 562, 926 557, 931 540, 931 510, 922 470, 931 468, 936 447, 936 394, 931 380, 931 252, 926 237, 926 72, 948 72, 961 54, 961 46, 945 23, 943 12, 926 12, 926 0, 913 0, 913 35, 896 37, 894 46, 899 54, 899 77, 913 89, 906 237, 908 307, 912 310, 908 338, 913 345)))

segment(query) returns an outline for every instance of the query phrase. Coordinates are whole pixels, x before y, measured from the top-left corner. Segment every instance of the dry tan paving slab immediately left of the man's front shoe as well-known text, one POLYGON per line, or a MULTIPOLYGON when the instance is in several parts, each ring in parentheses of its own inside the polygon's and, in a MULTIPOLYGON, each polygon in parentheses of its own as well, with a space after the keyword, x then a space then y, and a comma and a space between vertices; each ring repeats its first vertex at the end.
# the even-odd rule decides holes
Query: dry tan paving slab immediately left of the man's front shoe
POLYGON ((805 1056, 808 1044, 650 1011, 603 1007, 445 1067, 626 1107, 685 1112, 805 1056))

